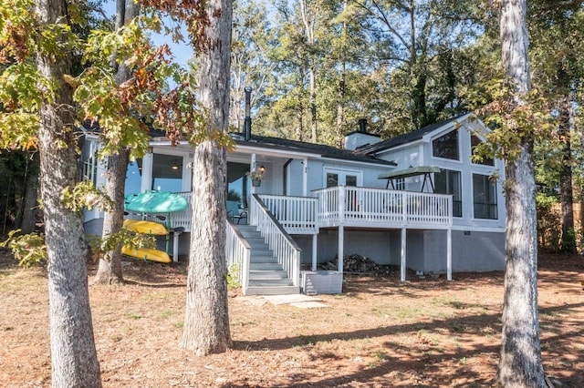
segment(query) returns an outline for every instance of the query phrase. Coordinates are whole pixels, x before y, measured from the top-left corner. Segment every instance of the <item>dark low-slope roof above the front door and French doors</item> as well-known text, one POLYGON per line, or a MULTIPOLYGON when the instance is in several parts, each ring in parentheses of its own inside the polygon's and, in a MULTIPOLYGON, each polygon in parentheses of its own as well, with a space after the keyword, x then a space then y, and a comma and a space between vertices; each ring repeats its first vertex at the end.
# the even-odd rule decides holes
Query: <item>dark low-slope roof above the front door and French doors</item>
POLYGON ((288 138, 272 138, 267 136, 252 135, 249 141, 243 140, 242 134, 232 133, 237 145, 248 145, 260 148, 279 148, 289 151, 297 151, 304 153, 313 153, 322 158, 334 158, 342 160, 360 161, 365 163, 375 163, 384 166, 396 166, 395 162, 388 160, 381 160, 370 155, 361 154, 358 151, 349 149, 336 148, 327 146, 325 144, 308 143, 298 140, 290 140, 288 138))

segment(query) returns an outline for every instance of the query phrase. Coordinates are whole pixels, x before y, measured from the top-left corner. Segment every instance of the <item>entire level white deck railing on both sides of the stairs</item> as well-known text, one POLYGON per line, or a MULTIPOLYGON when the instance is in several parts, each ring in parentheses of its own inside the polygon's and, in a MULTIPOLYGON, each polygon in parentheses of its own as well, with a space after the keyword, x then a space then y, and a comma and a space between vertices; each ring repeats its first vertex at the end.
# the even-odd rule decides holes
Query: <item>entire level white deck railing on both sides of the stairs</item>
MULTIPOLYGON (((172 228, 191 231, 191 192, 177 193, 189 202, 172 213, 172 228)), ((266 208, 289 234, 314 234, 318 228, 452 226, 452 196, 414 191, 336 186, 314 191, 315 198, 260 194, 266 208)), ((249 209, 253 213, 254 209, 249 209)), ((152 215, 156 216, 156 215, 152 215)), ((250 216, 253 217, 253 216, 250 216)), ((251 221, 250 221, 251 222, 251 221)))

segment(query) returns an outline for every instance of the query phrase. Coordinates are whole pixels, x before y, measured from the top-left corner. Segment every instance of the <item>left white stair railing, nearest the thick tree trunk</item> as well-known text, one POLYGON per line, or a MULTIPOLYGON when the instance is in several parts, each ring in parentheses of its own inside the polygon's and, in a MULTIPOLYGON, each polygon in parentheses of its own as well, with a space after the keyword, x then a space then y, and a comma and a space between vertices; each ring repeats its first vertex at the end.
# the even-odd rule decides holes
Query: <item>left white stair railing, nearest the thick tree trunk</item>
POLYGON ((234 268, 237 269, 242 292, 245 295, 249 286, 249 263, 252 247, 232 220, 226 220, 225 230, 227 230, 225 239, 227 271, 231 271, 234 268))

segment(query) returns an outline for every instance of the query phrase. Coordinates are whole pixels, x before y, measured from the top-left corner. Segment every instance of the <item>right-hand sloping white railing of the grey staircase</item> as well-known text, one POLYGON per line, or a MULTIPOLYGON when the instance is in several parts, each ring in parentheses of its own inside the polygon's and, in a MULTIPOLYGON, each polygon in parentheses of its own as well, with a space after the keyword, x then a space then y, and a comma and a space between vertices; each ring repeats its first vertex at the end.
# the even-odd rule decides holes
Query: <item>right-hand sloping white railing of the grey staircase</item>
POLYGON ((300 253, 302 250, 297 242, 290 237, 276 217, 267 209, 266 204, 257 194, 253 194, 250 200, 250 220, 253 225, 266 240, 270 250, 274 251, 274 256, 287 272, 289 279, 295 287, 300 283, 300 253))

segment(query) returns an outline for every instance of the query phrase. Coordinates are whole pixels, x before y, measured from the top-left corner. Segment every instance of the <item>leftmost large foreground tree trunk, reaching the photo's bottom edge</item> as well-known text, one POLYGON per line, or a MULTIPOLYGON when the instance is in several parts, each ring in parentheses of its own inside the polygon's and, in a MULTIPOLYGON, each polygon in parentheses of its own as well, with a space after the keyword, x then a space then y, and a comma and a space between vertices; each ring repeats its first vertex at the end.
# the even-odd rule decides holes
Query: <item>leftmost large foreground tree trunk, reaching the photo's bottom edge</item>
MULTIPOLYGON (((67 23, 65 0, 36 0, 41 26, 67 23)), ((60 40, 67 39, 61 36, 60 40)), ((76 184, 77 138, 72 90, 63 82, 70 74, 68 52, 39 54, 42 77, 57 84, 54 103, 39 108, 41 197, 48 253, 48 297, 53 387, 100 387, 99 362, 93 339, 87 260, 81 213, 64 207, 63 189, 76 184)))

